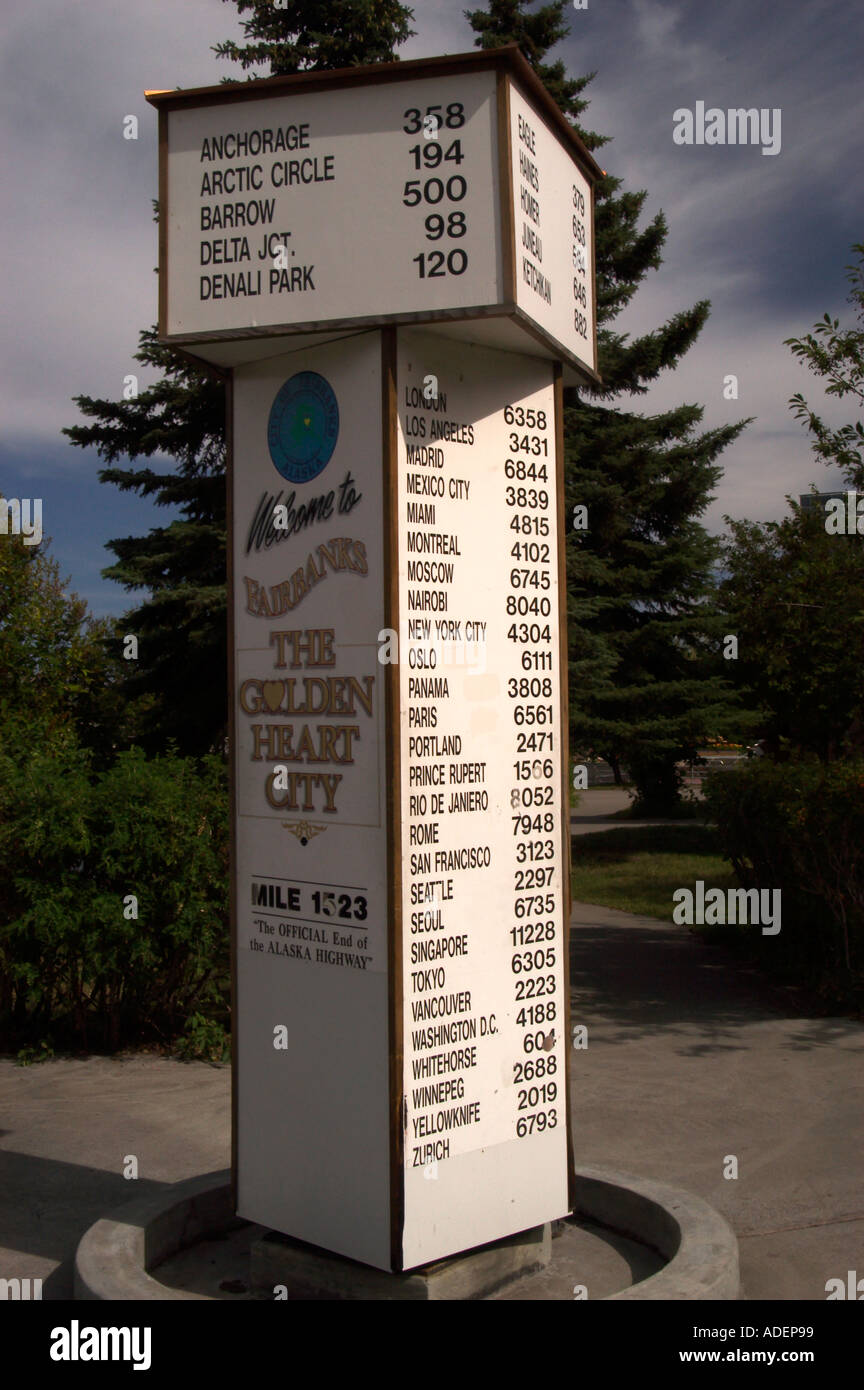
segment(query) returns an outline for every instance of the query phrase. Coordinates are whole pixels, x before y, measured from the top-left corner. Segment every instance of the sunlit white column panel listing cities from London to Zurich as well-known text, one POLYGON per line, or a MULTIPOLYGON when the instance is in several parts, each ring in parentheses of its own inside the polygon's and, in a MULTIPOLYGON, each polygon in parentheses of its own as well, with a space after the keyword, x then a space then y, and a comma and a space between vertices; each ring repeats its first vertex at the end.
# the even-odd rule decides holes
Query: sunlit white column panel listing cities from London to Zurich
POLYGON ((553 368, 399 343, 411 1266, 568 1209, 564 753, 553 368))

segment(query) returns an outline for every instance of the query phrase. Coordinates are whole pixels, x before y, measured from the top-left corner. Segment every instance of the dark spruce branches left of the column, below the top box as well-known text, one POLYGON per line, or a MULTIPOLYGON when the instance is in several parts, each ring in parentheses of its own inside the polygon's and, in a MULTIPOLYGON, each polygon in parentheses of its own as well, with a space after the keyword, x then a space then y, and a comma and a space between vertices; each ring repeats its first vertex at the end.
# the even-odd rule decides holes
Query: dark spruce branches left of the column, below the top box
POLYGON ((151 752, 174 739, 185 753, 206 753, 226 724, 225 389, 161 346, 156 328, 140 334, 135 360, 163 377, 131 400, 78 396, 94 424, 64 434, 108 464, 101 482, 181 513, 146 537, 110 541, 117 560, 103 574, 144 594, 115 624, 117 646, 124 634, 138 638, 124 685, 143 710, 139 741, 151 752))

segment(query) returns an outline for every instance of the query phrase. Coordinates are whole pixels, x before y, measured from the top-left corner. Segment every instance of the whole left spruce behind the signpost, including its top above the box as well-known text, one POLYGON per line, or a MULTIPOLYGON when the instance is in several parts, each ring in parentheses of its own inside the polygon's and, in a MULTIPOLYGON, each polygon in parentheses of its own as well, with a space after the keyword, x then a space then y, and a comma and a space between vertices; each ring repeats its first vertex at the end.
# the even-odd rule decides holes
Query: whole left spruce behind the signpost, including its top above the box
MULTIPOLYGON (((413 11, 397 0, 229 0, 243 19, 244 46, 221 43, 219 57, 243 70, 268 63, 269 74, 388 63, 411 36, 413 11)), ((179 520, 146 537, 108 543, 115 563, 103 570, 138 605, 115 624, 139 639, 125 691, 140 712, 138 741, 149 751, 174 741, 181 752, 221 749, 226 730, 225 594, 225 388, 218 374, 192 366, 142 331, 135 354, 161 373, 133 399, 76 396, 90 424, 64 430, 74 445, 96 449, 99 473, 124 492, 179 510, 179 520), (146 466, 142 463, 146 461, 146 466)))

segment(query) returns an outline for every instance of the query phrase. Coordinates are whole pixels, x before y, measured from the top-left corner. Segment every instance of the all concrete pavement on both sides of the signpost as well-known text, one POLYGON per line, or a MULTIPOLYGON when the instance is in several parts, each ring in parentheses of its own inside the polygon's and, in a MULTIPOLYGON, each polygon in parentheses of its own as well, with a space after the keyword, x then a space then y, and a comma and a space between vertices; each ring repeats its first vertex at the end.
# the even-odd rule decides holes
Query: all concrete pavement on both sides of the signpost
MULTIPOLYGON (((704 1197, 738 1233, 747 1298, 864 1276, 864 1029, 793 1016, 685 929, 607 908, 574 908, 571 979, 589 1042, 570 1054, 576 1165, 704 1197)), ((92 1222, 228 1166, 229 1080, 156 1056, 1 1061, 0 1277, 68 1298, 92 1222)))

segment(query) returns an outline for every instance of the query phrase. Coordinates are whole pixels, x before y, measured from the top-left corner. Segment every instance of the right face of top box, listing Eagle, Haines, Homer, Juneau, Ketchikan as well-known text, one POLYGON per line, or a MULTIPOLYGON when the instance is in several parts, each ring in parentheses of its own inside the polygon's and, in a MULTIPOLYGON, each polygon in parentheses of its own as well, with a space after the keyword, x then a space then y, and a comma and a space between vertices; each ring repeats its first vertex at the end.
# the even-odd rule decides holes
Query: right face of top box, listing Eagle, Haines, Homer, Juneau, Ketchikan
POLYGON ((510 89, 517 302, 582 361, 595 363, 592 186, 528 104, 510 89))

